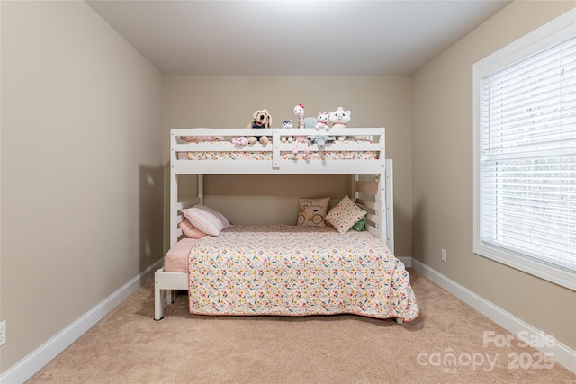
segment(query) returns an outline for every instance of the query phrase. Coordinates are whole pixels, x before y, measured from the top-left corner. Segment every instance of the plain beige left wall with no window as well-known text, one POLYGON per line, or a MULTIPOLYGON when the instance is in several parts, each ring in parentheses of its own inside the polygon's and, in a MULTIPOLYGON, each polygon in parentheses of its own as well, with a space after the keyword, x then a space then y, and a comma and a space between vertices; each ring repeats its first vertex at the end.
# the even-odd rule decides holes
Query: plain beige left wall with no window
POLYGON ((2 2, 0 371, 162 255, 162 76, 84 2, 2 2))

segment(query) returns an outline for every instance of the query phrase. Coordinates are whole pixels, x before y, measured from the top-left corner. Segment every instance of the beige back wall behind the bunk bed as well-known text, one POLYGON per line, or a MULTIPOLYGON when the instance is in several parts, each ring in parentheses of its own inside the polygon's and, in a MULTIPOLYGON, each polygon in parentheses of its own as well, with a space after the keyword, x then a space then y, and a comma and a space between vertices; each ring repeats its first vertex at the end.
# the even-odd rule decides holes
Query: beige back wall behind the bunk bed
MULTIPOLYGON (((298 103, 304 104, 307 117, 342 106, 352 112, 348 127, 386 127, 386 156, 394 160, 396 255, 410 256, 410 84, 406 76, 167 76, 165 159, 170 128, 246 128, 253 112, 263 108, 271 113, 273 126, 280 127, 286 119, 296 122, 293 107, 298 103)), ((205 193, 206 202, 233 222, 294 223, 298 197, 329 196, 337 203, 348 187, 343 176, 207 176, 205 193)))

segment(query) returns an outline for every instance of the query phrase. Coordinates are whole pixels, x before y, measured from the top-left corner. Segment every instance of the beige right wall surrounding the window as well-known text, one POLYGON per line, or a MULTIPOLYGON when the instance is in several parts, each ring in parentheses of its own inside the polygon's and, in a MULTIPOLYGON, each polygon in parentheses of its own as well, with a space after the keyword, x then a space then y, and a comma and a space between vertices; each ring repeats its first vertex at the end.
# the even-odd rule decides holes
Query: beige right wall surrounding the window
POLYGON ((576 292, 473 254, 472 67, 574 4, 510 4, 422 67, 412 87, 413 256, 572 349, 576 292))

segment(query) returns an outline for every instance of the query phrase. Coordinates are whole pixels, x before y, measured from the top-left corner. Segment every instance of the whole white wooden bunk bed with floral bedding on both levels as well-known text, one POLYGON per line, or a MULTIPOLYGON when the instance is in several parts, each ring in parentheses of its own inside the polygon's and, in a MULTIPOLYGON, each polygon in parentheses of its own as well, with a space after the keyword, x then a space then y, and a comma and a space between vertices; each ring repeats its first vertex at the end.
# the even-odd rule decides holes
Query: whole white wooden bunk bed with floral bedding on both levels
POLYGON ((351 313, 398 323, 419 316, 410 275, 393 254, 392 160, 385 157, 385 129, 329 129, 329 135, 347 139, 308 148, 284 140, 295 132, 326 134, 266 129, 270 143, 238 146, 231 139, 253 135, 253 129, 171 129, 172 248, 155 272, 155 320, 164 317, 177 290, 188 291, 190 313, 200 315, 351 313), (186 237, 183 210, 205 207, 207 174, 349 175, 351 201, 365 211, 365 229, 232 223, 217 236, 186 237), (197 178, 197 193, 182 199, 179 181, 190 175, 197 178))

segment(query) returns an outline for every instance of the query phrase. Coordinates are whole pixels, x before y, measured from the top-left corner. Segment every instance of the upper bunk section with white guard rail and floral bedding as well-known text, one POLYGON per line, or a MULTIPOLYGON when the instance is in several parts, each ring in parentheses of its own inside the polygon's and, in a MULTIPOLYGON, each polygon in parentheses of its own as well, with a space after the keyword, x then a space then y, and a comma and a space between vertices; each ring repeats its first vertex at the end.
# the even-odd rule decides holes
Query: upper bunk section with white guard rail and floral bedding
MULTIPOLYGON (((266 129, 270 142, 239 145, 255 129, 172 129, 176 174, 378 174, 384 166, 383 128, 266 129), (295 135, 298 133, 298 135, 295 135), (329 135, 334 141, 318 144, 329 135), (289 142, 289 138, 293 138, 289 142), (298 141, 301 138, 302 141, 298 141)), ((257 129, 258 134, 265 129, 257 129)))

